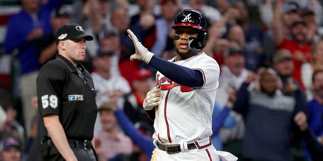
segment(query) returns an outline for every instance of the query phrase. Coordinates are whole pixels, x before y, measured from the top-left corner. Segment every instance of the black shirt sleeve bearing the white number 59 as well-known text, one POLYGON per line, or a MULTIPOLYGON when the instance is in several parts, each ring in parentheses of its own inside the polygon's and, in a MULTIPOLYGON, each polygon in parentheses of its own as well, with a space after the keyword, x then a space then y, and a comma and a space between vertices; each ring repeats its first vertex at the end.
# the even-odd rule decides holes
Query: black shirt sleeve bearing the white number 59
POLYGON ((37 98, 38 111, 42 117, 46 114, 60 114, 66 74, 64 67, 54 63, 46 64, 40 69, 37 77, 37 98))

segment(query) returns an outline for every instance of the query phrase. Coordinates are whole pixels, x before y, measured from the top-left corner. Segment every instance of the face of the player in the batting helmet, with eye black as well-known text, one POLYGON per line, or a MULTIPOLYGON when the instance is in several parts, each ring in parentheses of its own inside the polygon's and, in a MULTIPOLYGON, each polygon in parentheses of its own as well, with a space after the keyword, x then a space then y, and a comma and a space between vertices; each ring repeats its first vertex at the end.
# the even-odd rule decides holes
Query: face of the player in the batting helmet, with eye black
POLYGON ((177 54, 182 58, 194 56, 196 52, 192 51, 189 46, 189 38, 197 38, 198 31, 191 27, 178 27, 175 29, 175 36, 179 36, 178 40, 174 40, 177 54))

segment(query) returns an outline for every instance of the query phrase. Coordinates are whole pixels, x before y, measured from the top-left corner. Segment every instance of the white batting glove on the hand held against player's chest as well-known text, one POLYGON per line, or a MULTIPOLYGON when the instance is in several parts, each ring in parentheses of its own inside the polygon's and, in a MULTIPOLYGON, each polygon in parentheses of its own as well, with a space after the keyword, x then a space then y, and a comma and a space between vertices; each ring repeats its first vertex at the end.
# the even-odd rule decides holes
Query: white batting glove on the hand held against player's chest
POLYGON ((142 104, 143 109, 152 110, 155 106, 158 106, 159 100, 160 100, 160 88, 159 86, 157 86, 147 93, 146 98, 142 104))

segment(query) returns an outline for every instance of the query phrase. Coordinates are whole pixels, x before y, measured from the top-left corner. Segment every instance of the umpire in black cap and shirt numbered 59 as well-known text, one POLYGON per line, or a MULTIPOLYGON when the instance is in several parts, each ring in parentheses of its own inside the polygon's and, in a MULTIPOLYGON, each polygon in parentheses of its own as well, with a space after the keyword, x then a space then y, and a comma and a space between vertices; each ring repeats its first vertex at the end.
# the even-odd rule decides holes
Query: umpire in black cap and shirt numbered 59
POLYGON ((56 34, 59 54, 37 77, 41 151, 38 160, 97 160, 92 147, 97 107, 89 72, 80 63, 85 41, 93 40, 78 24, 56 34))

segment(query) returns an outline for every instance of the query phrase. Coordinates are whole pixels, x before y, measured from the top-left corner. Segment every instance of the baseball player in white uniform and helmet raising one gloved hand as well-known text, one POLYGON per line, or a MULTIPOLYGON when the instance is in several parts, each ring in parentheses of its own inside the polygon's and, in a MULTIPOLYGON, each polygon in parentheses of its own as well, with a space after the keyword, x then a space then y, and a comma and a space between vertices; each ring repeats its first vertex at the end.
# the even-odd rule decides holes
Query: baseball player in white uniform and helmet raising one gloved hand
POLYGON ((128 30, 136 47, 130 59, 143 60, 158 70, 156 87, 143 103, 154 118, 156 148, 151 160, 237 160, 229 152, 217 151, 211 142, 220 68, 200 52, 207 37, 206 20, 199 11, 183 10, 172 28, 177 56, 169 61, 154 56, 128 30))

